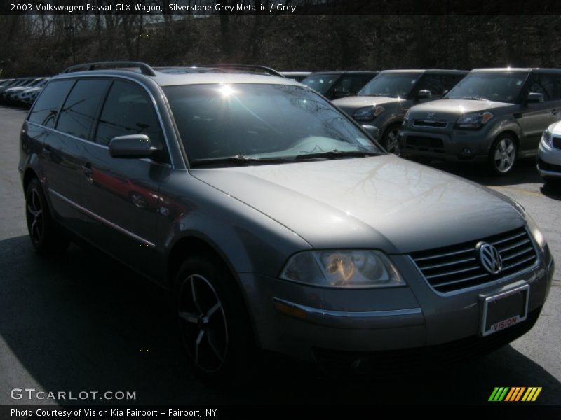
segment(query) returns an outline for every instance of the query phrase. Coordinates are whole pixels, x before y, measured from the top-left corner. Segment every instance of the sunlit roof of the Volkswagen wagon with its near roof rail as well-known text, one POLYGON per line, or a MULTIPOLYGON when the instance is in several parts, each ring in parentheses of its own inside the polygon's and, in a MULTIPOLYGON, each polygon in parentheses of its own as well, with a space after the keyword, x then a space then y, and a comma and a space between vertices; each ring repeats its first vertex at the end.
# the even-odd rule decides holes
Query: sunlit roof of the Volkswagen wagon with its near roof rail
POLYGON ((295 80, 284 77, 269 76, 264 73, 243 73, 243 72, 224 72, 220 69, 204 69, 203 71, 189 71, 186 67, 165 67, 154 68, 155 76, 147 76, 139 71, 119 70, 119 69, 100 69, 89 71, 74 71, 71 73, 61 73, 54 76, 51 80, 61 78, 85 78, 90 76, 125 76, 140 82, 147 79, 154 80, 158 85, 177 86, 177 85, 205 85, 217 83, 256 83, 267 85, 296 85, 301 86, 295 80))

